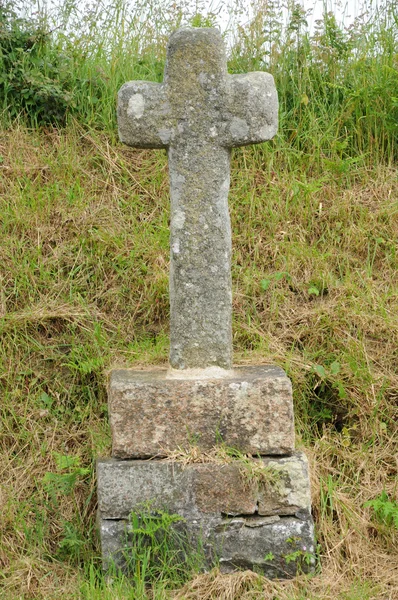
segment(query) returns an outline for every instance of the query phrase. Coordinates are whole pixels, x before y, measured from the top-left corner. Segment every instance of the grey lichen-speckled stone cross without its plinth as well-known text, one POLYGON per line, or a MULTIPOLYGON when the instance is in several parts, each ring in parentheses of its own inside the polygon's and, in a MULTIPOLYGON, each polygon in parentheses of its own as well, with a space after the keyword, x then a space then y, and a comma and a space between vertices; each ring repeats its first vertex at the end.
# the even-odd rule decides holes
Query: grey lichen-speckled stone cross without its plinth
POLYGON ((122 142, 168 152, 174 369, 232 366, 230 153, 271 139, 277 124, 272 76, 228 75, 217 29, 177 30, 163 83, 131 81, 119 92, 122 142))

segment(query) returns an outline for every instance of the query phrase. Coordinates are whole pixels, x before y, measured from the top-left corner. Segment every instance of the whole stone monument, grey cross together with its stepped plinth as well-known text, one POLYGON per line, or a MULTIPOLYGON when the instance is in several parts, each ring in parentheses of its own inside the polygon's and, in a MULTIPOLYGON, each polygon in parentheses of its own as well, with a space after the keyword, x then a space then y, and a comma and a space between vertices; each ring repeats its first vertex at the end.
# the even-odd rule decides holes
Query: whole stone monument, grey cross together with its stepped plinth
POLYGON ((105 568, 123 567, 129 514, 145 501, 184 518, 209 566, 270 577, 292 576, 300 562, 312 568, 308 465, 294 449, 290 381, 278 367, 232 364, 230 153, 271 139, 277 122, 272 76, 229 75, 216 29, 177 30, 163 83, 132 81, 119 92, 120 139, 168 154, 170 368, 111 374, 112 458, 97 465, 105 568), (239 461, 162 460, 192 440, 202 451, 222 440, 275 480, 246 481, 239 461))

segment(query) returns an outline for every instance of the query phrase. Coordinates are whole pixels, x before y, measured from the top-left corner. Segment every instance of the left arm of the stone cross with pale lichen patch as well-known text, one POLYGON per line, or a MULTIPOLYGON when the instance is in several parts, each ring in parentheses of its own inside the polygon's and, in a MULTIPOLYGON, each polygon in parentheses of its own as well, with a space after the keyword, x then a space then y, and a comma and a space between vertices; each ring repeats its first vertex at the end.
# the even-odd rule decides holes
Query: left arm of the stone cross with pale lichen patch
POLYGON ((150 81, 129 81, 118 94, 117 119, 122 142, 136 148, 167 148, 171 109, 165 87, 150 81))

